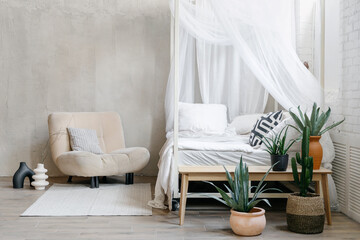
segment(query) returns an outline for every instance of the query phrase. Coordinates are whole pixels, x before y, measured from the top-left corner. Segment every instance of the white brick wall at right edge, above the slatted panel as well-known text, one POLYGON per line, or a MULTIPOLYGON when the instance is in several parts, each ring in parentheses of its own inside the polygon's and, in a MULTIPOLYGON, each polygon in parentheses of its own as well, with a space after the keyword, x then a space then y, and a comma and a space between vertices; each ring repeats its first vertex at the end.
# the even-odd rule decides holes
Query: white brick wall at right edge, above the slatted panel
POLYGON ((330 105, 335 118, 346 118, 341 130, 360 135, 360 1, 340 1, 340 35, 340 94, 330 105))

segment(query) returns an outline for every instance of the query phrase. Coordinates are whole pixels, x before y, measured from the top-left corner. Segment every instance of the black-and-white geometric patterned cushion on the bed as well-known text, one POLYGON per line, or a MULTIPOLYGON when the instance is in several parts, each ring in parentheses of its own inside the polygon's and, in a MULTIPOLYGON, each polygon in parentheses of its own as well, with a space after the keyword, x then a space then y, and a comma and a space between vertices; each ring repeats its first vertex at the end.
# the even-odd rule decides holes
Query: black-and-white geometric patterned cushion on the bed
POLYGON ((263 136, 276 127, 282 118, 282 111, 270 112, 260 117, 254 125, 250 133, 249 143, 254 148, 260 147, 263 136))

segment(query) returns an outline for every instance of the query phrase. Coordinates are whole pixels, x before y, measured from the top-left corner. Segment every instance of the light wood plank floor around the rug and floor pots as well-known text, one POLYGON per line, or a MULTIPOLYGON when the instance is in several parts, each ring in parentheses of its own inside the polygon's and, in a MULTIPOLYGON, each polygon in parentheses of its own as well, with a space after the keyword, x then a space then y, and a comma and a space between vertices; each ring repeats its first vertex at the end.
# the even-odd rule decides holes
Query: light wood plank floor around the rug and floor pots
MULTIPOLYGON (((110 181, 123 182, 121 178, 110 181)), ((135 182, 152 185, 154 181, 135 178, 135 182)), ((50 182, 65 183, 66 179, 52 178, 50 182)), ((28 182, 24 189, 13 189, 11 178, 0 178, 0 239, 247 239, 232 233, 228 210, 200 211, 191 202, 181 227, 177 212, 158 209, 153 210, 153 216, 19 217, 43 193, 30 188, 28 182)), ((317 235, 289 232, 283 209, 267 211, 266 218, 263 234, 249 239, 360 239, 360 224, 341 213, 333 213, 333 225, 325 225, 324 232, 317 235)))

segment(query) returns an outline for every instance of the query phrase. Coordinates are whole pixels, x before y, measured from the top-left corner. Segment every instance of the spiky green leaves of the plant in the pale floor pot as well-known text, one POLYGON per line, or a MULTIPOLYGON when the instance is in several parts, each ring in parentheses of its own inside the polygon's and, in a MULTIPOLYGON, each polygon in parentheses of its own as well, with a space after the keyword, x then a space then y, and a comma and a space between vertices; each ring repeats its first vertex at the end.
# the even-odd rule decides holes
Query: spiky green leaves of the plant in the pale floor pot
POLYGON ((212 198, 218 200, 219 202, 227 205, 228 207, 238 212, 249 212, 253 207, 255 207, 261 201, 266 202, 271 207, 270 202, 267 199, 258 199, 258 198, 263 192, 268 190, 280 191, 277 188, 265 189, 266 184, 263 184, 265 178, 269 174, 272 167, 269 168, 269 170, 263 176, 259 184, 256 186, 254 196, 251 200, 249 200, 249 190, 255 188, 255 186, 249 187, 249 169, 246 163, 243 163, 242 157, 240 158, 239 165, 236 166, 235 168, 234 179, 231 177, 231 174, 225 168, 225 166, 224 169, 226 171, 226 178, 228 180, 229 187, 226 186, 225 184, 224 186, 229 192, 230 196, 221 188, 215 186, 211 182, 208 182, 216 188, 216 190, 220 193, 222 197, 221 199, 218 197, 211 196, 212 198))

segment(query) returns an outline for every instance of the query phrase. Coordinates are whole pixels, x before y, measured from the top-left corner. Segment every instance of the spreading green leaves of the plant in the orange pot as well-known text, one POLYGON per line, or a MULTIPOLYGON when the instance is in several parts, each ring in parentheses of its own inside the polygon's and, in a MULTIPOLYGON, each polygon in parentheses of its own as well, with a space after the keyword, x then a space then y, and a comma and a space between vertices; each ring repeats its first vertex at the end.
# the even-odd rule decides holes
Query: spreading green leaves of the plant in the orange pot
POLYGON ((328 126, 327 128, 322 129, 330 117, 331 109, 329 108, 324 113, 323 111, 320 110, 320 107, 317 107, 316 103, 314 103, 313 105, 310 117, 306 113, 304 114, 301 111, 300 106, 298 106, 298 112, 299 112, 299 117, 296 116, 295 113, 289 111, 291 117, 294 119, 297 125, 297 127, 295 126, 292 127, 294 127, 295 129, 297 129, 299 132, 302 133, 304 131, 304 128, 307 126, 310 129, 310 136, 321 136, 325 132, 340 125, 342 122, 345 121, 345 119, 343 119, 339 122, 336 123, 334 122, 332 125, 328 126))

